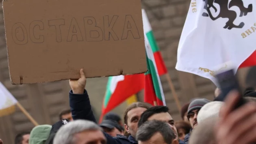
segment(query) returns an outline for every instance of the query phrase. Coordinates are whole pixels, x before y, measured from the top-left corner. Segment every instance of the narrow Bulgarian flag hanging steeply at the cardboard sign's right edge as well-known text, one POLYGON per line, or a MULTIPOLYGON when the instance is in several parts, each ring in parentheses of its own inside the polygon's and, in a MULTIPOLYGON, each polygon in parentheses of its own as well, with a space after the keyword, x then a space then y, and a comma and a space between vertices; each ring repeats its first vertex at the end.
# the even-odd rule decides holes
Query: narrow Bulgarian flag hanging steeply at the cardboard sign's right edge
POLYGON ((145 35, 148 71, 145 73, 144 101, 152 105, 166 105, 165 95, 149 40, 145 35))

